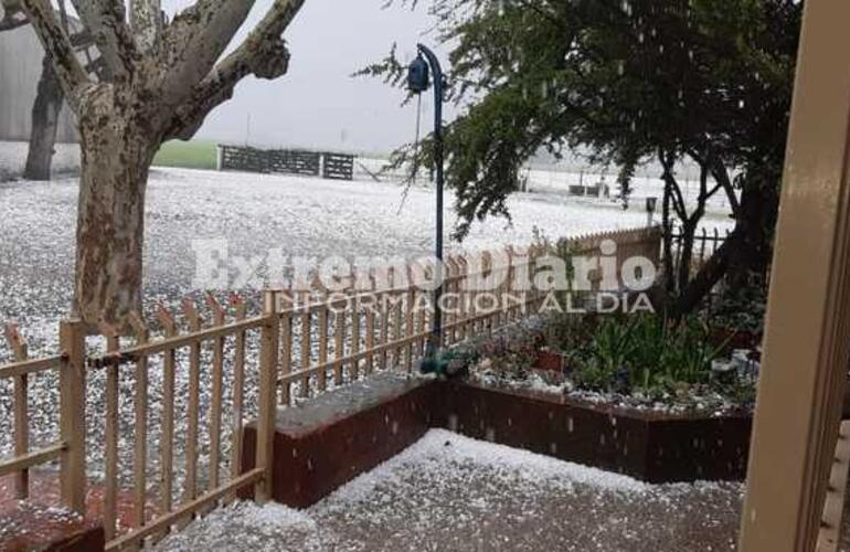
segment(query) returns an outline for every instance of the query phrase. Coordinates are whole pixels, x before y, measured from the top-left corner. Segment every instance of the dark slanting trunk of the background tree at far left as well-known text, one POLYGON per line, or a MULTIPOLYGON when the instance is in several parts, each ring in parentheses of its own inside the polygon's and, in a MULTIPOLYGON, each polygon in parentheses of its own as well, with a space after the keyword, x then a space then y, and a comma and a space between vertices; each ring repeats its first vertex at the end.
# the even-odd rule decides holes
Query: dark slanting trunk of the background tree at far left
POLYGON ((26 155, 26 167, 23 171, 23 178, 28 180, 50 180, 59 115, 64 99, 62 86, 53 72, 53 63, 45 55, 42 62, 38 95, 32 106, 30 149, 26 155))

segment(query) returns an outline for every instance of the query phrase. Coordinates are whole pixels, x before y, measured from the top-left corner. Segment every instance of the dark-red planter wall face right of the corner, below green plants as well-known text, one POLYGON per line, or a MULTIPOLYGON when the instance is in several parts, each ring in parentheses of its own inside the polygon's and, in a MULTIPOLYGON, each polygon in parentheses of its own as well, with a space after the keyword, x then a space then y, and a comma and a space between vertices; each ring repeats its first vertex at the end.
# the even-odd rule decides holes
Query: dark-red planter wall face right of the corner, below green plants
POLYGON ((626 412, 564 397, 451 382, 449 429, 648 482, 743 480, 752 421, 626 412))

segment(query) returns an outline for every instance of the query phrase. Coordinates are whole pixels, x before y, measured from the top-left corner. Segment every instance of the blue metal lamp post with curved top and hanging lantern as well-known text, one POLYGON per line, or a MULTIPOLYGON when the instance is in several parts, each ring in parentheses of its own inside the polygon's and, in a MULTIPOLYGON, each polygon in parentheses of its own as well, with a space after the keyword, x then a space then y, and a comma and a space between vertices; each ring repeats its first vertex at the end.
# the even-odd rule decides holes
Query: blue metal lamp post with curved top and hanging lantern
POLYGON ((443 310, 440 297, 443 296, 443 68, 439 60, 427 46, 416 45, 418 55, 411 63, 407 72, 407 87, 415 94, 422 94, 428 89, 428 67, 434 75, 434 164, 437 173, 437 288, 434 291, 434 326, 426 357, 433 358, 439 350, 443 333, 443 310))

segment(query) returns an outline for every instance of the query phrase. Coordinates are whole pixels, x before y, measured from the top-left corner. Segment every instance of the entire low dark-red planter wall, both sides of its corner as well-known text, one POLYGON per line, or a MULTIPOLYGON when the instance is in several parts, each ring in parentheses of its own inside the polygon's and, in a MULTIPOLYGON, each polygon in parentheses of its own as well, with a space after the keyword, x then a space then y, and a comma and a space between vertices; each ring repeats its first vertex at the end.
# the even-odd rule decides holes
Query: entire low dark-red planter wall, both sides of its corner
MULTIPOLYGON (((649 482, 741 480, 746 473, 751 420, 745 416, 682 418, 615 411, 460 381, 412 380, 401 388, 374 388, 358 383, 280 412, 275 500, 306 508, 399 454, 429 427, 649 482), (336 393, 343 393, 340 407, 333 405, 336 393), (352 404, 358 393, 366 396, 363 404, 352 404)), ((254 466, 255 439, 249 425, 244 470, 254 466)))

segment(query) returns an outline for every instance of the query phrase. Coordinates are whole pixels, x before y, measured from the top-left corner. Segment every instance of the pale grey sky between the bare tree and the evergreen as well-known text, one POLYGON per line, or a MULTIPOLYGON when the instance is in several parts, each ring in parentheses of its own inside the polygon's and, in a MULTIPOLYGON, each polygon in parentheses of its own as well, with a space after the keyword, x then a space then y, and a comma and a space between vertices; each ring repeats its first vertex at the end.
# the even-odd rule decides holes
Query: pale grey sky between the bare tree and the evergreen
MULTIPOLYGON (((170 14, 190 0, 164 0, 170 14)), ((270 0, 258 0, 251 20, 270 0)), ((400 107, 403 95, 380 79, 351 74, 380 61, 393 42, 404 59, 417 41, 429 45, 434 24, 427 6, 411 12, 385 0, 307 0, 285 33, 291 52, 289 73, 277 81, 244 79, 233 99, 215 109, 199 138, 257 145, 302 146, 363 152, 387 152, 411 141, 416 108, 400 107), (249 119, 249 120, 248 120, 249 119)), ((438 52, 445 60, 445 53, 438 52)), ((432 102, 423 102, 423 120, 431 121, 432 102)), ((450 117, 450 110, 448 112, 450 117)), ((423 132, 425 127, 423 127, 423 132)))

